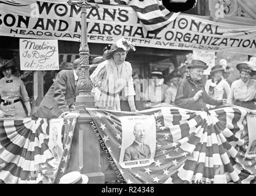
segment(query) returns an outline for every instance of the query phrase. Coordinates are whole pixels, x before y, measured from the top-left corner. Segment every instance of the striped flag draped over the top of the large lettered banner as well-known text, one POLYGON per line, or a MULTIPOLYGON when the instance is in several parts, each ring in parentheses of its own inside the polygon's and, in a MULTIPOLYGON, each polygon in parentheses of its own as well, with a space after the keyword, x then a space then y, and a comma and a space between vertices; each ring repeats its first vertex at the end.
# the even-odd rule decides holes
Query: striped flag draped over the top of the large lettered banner
POLYGON ((127 5, 132 7, 148 31, 159 32, 174 21, 180 12, 170 12, 159 0, 91 0, 99 4, 127 5))

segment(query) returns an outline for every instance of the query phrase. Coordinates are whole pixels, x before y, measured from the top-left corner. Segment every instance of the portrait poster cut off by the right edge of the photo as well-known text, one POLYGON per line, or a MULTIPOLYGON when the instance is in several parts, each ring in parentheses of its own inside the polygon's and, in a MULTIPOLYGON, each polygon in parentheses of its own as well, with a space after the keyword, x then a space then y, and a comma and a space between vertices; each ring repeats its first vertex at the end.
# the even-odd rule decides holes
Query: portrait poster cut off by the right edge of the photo
POLYGON ((247 115, 246 118, 249 136, 249 145, 246 151, 246 156, 256 157, 256 115, 247 115))

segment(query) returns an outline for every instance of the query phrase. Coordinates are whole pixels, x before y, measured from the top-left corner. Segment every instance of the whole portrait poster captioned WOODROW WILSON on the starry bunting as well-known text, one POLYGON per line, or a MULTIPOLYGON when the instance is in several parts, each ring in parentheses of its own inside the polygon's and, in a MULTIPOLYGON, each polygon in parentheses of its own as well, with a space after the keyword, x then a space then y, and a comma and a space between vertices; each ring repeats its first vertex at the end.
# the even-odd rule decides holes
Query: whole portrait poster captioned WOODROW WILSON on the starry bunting
POLYGON ((154 162, 156 121, 154 116, 123 116, 119 164, 122 168, 144 167, 154 162))

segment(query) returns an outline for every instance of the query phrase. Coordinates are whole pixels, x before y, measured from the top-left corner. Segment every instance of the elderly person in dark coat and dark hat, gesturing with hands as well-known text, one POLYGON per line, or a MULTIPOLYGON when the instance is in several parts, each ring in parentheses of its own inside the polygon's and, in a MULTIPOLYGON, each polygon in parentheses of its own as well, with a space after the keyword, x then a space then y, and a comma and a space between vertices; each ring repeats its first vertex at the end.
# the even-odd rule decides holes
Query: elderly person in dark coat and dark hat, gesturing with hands
POLYGON ((175 97, 175 105, 189 110, 203 111, 207 110, 206 104, 226 104, 226 99, 215 100, 206 93, 202 83, 204 70, 207 69, 205 62, 194 59, 187 67, 190 75, 182 79, 175 97))

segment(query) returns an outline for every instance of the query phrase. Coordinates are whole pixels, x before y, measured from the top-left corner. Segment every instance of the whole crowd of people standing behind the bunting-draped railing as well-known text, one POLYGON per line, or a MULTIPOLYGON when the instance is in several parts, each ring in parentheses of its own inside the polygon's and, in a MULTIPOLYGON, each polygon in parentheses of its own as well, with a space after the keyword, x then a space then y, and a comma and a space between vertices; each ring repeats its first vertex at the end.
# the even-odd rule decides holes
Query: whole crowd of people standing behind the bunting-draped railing
MULTIPOLYGON (((236 66, 240 78, 233 83, 229 80, 231 66, 225 59, 212 67, 209 76, 204 75, 206 62, 191 59, 174 66, 167 76, 161 70, 151 70, 151 77, 143 79, 126 61, 130 51, 135 51, 134 45, 119 39, 105 47, 101 58, 94 59, 97 63, 90 70, 90 80, 94 85, 95 107, 120 111, 121 100, 126 97, 130 111, 162 103, 190 110, 209 110, 223 105, 256 110, 255 57, 236 66)), ((72 70, 61 70, 55 75, 34 117, 58 118, 74 108, 79 69, 79 59, 76 59, 72 70)), ((1 59, 0 70, 0 117, 31 116, 30 97, 22 78, 14 76, 14 61, 1 59)))

